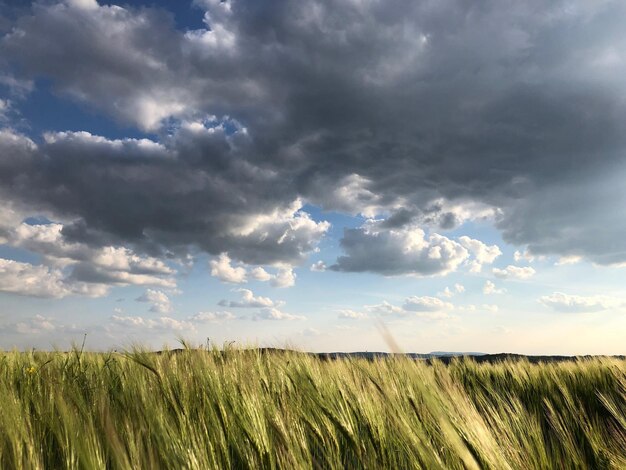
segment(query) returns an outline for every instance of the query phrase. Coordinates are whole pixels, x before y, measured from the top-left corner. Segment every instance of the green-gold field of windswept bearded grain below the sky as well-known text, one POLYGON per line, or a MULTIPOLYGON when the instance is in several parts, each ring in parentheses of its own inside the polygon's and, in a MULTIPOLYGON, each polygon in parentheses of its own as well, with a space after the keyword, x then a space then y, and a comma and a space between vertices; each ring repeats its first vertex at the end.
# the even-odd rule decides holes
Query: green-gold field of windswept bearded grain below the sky
POLYGON ((0 353, 0 468, 626 468, 626 361, 0 353))

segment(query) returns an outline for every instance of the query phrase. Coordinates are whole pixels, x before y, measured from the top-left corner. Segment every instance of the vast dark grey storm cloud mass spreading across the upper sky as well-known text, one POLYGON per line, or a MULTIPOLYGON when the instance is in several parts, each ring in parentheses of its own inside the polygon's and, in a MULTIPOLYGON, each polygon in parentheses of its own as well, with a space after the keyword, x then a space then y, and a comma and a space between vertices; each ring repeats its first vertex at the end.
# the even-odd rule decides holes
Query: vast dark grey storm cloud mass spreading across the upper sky
MULTIPOLYGON (((36 5, 3 53, 27 78, 142 129, 228 115, 245 138, 180 131, 141 148, 64 136, 35 163, 3 154, 3 191, 78 218, 68 235, 196 244, 253 263, 314 246, 304 220, 292 239, 282 226, 235 234, 253 214, 289 224, 297 196, 387 211, 388 229, 451 228, 460 220, 433 211, 437 201, 480 203, 532 251, 626 261, 624 190, 606 187, 607 173, 626 174, 622 3, 206 5, 210 31, 187 33, 145 8, 36 5)), ((364 233, 347 232, 334 269, 394 272, 351 266, 364 233)))

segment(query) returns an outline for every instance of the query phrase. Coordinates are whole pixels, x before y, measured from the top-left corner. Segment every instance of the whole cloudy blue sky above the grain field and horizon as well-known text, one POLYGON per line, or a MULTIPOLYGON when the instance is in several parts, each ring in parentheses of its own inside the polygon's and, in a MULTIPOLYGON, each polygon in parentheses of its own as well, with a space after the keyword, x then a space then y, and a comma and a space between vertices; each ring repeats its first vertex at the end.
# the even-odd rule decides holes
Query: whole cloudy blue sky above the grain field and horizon
POLYGON ((625 23, 0 1, 0 349, 626 353, 625 23))

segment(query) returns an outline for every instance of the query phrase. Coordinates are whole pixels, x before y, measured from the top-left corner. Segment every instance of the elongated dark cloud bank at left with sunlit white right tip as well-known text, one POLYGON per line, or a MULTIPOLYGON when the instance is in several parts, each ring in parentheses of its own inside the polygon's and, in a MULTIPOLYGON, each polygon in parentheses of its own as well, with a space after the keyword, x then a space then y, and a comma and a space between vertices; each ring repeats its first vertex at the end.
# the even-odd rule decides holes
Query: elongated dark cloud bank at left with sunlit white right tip
MULTIPOLYGON (((328 226, 300 213, 295 191, 275 173, 239 158, 239 138, 197 124, 164 144, 82 132, 47 134, 37 146, 5 131, 3 161, 18 163, 0 175, 3 199, 74 220, 58 243, 181 255, 191 246, 254 264, 298 263, 328 226)), ((45 248, 36 251, 58 256, 60 247, 45 248)))

